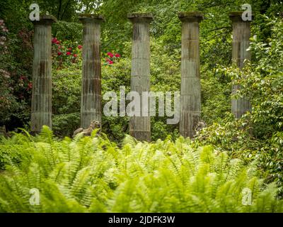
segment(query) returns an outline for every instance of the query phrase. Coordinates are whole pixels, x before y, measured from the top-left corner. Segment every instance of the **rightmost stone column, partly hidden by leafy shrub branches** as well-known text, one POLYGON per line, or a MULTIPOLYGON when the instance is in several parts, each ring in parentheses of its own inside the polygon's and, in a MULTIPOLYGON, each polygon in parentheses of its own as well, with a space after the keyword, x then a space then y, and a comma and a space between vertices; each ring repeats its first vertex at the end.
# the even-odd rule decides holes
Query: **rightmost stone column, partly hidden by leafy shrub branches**
MULTIPOLYGON (((230 19, 233 23, 233 50, 232 62, 240 69, 243 68, 244 60, 250 60, 250 51, 247 51, 250 45, 250 21, 243 21, 243 12, 231 12, 230 19)), ((241 89, 241 84, 234 84, 232 94, 241 89)), ((236 118, 241 118, 243 114, 250 111, 250 101, 246 97, 232 98, 232 113, 236 118)))

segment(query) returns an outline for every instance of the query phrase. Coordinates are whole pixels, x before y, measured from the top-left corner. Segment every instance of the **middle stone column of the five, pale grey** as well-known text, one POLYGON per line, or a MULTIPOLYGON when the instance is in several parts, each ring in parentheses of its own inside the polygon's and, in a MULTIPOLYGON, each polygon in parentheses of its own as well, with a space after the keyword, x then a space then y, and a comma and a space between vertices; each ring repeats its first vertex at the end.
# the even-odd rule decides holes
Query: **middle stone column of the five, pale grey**
MULTIPOLYGON (((133 24, 131 92, 138 92, 141 97, 142 92, 149 92, 150 88, 149 23, 153 17, 151 13, 131 13, 128 18, 133 24)), ((132 116, 129 119, 129 134, 137 140, 150 141, 150 116, 141 116, 141 98, 140 104, 140 116, 132 116)))

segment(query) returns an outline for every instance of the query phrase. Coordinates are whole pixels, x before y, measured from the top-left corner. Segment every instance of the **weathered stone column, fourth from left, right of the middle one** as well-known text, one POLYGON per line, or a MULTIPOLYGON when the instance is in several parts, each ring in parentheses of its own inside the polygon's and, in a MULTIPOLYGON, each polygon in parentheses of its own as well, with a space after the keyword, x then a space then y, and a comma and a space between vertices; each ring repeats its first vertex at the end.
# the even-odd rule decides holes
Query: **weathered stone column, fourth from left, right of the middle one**
POLYGON ((182 21, 180 135, 192 138, 200 121, 200 26, 202 13, 179 13, 182 21))

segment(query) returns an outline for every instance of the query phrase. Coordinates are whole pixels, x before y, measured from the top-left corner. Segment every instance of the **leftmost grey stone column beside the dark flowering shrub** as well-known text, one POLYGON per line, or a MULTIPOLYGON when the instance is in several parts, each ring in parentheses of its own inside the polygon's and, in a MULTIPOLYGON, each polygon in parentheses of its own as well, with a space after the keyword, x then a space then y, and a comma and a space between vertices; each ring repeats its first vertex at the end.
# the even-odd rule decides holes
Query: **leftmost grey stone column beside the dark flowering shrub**
POLYGON ((38 133, 43 125, 52 128, 52 31, 54 16, 41 16, 33 21, 33 94, 31 131, 38 133))

